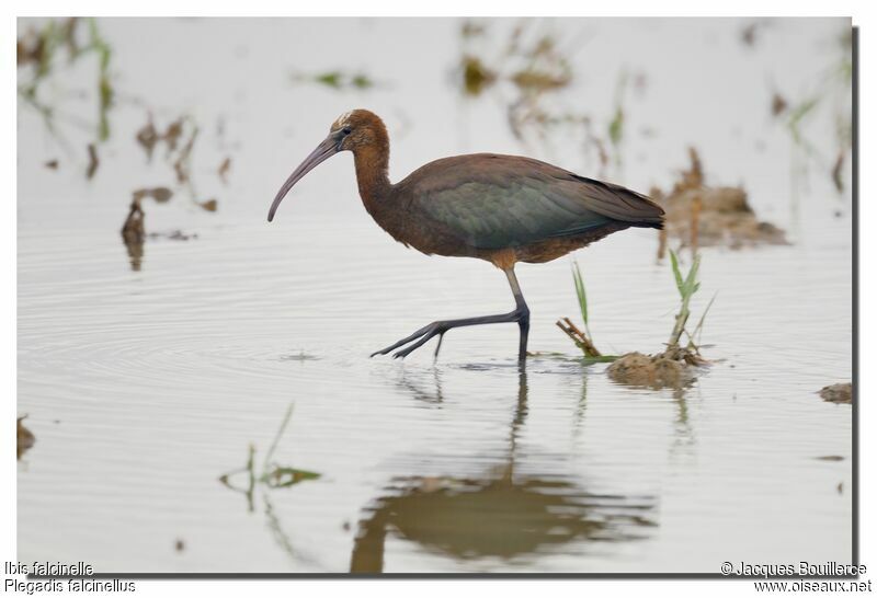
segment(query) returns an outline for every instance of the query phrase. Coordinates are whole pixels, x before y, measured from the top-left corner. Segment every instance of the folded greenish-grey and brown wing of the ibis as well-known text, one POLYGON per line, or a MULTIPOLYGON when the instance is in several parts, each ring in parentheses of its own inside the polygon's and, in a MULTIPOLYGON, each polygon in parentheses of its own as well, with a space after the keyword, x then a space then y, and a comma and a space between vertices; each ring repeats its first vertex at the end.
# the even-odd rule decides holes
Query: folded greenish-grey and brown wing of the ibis
POLYGON ((663 210, 625 187, 514 156, 481 153, 431 162, 400 185, 409 209, 470 246, 520 246, 612 221, 660 227, 663 210))

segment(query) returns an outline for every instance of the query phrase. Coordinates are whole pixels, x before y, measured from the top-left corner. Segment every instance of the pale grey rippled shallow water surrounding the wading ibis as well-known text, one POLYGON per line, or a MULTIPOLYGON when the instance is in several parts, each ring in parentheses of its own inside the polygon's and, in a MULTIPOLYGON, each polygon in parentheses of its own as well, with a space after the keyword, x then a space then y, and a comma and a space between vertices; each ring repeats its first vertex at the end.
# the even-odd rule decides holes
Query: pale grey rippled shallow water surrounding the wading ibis
MULTIPOLYGON (((648 74, 627 112, 631 131, 656 133, 630 134, 614 180, 667 187, 696 145, 709 182, 742 183, 793 241, 703 250, 694 312, 718 292, 704 331, 716 364, 691 388, 654 391, 582 364, 554 325, 578 320, 570 257, 517 268, 531 350, 561 355, 521 371, 516 327, 497 325, 452 331, 435 363, 432 344, 369 359, 432 320, 505 311, 512 298, 486 263, 428 257, 379 230, 346 154, 265 222, 288 172, 356 106, 386 116, 394 180, 480 150, 592 174, 562 131, 522 146, 496 97, 460 99, 458 21, 101 21, 124 94, 95 176, 82 174, 81 131, 66 150, 20 108, 18 412, 36 442, 19 462, 19 560, 129 573, 850 562, 851 407, 817 394, 852 376, 848 192, 811 173, 791 199, 788 136, 771 126, 765 82, 805 89, 843 24, 774 22, 754 49, 729 20, 538 24, 581 45, 565 102, 597 119, 622 66, 648 74), (378 87, 291 74, 340 66, 378 87), (196 237, 148 239, 135 269, 118 232, 130 193, 173 186, 134 141, 146 106, 157 122, 185 112, 202 124, 193 172, 219 208, 182 192, 145 204, 148 232, 196 237), (227 186, 215 174, 226 156, 227 186), (319 476, 260 480, 276 465, 319 476)), ((502 38, 511 24, 494 27, 502 38)), ((93 79, 80 70, 60 77, 93 79)), ((653 353, 669 336, 677 295, 657 244, 628 230, 576 254, 606 352, 653 353)))

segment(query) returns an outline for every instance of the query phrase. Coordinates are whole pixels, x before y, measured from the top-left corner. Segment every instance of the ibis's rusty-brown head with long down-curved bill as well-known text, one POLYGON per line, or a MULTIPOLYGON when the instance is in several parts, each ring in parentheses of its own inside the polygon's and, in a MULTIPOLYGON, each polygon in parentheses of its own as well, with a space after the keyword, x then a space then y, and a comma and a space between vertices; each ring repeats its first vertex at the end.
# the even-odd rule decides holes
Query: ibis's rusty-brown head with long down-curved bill
POLYGON ((305 177, 318 164, 331 158, 340 151, 352 151, 356 154, 367 148, 374 148, 380 143, 387 143, 387 129, 384 122, 374 113, 367 110, 354 110, 345 112, 339 116, 332 126, 329 127, 329 135, 317 146, 310 156, 305 158, 293 174, 277 192, 271 209, 267 212, 267 221, 274 219, 283 198, 293 188, 293 185, 305 177))

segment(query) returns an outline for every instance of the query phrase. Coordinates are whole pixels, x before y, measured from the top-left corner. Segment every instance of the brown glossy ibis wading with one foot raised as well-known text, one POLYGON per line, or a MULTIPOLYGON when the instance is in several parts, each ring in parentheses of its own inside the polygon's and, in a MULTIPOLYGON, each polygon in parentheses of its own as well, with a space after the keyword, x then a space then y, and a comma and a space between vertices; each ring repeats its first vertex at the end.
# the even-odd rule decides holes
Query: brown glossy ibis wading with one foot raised
POLYGON ((515 300, 509 313, 440 320, 373 356, 405 347, 394 355, 405 357, 436 335, 437 355, 451 329, 516 322, 517 357, 523 361, 529 309, 514 274, 516 262, 548 262, 615 231, 663 226, 664 210, 645 195, 517 156, 444 158, 392 184, 387 128, 365 110, 342 114, 332 123, 329 136, 277 192, 269 221, 293 185, 340 151, 353 152, 365 209, 394 239, 426 255, 487 260, 505 273, 515 300))

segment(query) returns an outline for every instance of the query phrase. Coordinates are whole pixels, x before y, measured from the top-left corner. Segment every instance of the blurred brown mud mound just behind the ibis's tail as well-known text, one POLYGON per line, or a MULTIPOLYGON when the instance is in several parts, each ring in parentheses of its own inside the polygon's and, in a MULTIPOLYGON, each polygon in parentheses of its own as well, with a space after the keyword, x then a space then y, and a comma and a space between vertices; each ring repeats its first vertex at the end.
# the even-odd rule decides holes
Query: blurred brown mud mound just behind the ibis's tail
POLYGON ((669 194, 653 188, 651 196, 667 212, 667 234, 688 246, 724 245, 731 249, 761 244, 785 245, 785 232, 760 222, 740 187, 708 187, 697 151, 688 150, 691 168, 669 194))

